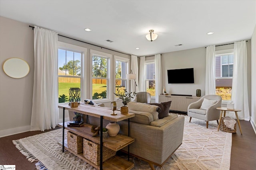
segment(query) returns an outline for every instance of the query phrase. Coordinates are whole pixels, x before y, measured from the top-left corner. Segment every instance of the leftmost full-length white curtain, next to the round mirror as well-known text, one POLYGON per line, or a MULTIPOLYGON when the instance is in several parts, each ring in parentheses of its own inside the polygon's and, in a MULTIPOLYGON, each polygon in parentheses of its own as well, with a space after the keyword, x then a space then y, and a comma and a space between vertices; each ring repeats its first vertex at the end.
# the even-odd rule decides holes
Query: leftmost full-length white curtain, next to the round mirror
POLYGON ((34 89, 31 131, 55 128, 58 119, 58 34, 34 28, 34 89))

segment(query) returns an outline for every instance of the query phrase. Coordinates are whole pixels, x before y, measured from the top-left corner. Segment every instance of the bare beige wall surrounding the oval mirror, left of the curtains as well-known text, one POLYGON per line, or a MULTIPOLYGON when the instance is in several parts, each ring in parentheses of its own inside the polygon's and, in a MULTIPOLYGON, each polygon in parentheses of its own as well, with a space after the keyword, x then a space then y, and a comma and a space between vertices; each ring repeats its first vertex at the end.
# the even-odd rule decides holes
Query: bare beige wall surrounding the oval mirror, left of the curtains
POLYGON ((0 137, 30 130, 33 80, 34 32, 26 23, 0 16, 0 137), (12 57, 30 66, 24 78, 7 76, 2 65, 12 57))

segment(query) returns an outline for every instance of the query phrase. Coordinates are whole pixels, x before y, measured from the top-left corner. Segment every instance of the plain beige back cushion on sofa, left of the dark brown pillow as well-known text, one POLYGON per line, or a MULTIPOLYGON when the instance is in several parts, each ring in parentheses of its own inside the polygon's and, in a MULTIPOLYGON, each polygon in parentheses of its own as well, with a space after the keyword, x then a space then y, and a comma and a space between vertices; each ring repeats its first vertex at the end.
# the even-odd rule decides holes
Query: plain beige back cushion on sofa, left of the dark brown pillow
POLYGON ((158 106, 144 104, 144 103, 137 103, 137 102, 129 102, 127 106, 129 107, 129 112, 130 110, 148 112, 153 115, 154 120, 158 120, 157 111, 158 110, 160 111, 160 107, 158 106))

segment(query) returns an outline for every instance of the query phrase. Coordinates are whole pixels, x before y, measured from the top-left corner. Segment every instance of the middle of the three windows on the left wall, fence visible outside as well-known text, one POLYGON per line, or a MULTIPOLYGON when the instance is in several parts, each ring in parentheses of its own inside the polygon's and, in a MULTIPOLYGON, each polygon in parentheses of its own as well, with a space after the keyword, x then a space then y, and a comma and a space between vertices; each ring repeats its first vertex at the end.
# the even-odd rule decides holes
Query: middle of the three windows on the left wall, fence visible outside
POLYGON ((112 55, 91 50, 92 55, 92 100, 108 99, 110 94, 109 64, 112 55))

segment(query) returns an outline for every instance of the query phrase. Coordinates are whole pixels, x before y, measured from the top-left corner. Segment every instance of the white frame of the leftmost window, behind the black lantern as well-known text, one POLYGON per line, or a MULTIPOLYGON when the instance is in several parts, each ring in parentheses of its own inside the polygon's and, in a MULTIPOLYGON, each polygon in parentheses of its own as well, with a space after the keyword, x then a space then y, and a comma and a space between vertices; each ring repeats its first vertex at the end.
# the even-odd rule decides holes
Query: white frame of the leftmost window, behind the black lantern
MULTIPOLYGON (((86 84, 84 83, 84 80, 86 80, 86 74, 85 74, 84 62, 86 61, 87 48, 58 41, 58 49, 81 53, 81 76, 79 76, 79 77, 80 77, 80 89, 81 89, 81 92, 80 92, 81 100, 80 101, 83 101, 86 97, 86 84)), ((57 66, 57 70, 58 70, 58 68, 59 67, 57 66)), ((58 77, 76 77, 76 76, 58 75, 58 77)), ((76 78, 78 78, 78 76, 76 78)), ((59 81, 58 81, 58 83, 59 83, 59 81)), ((58 91, 59 91, 59 88, 58 88, 58 91)), ((69 96, 68 96, 68 98, 69 98, 69 96)), ((67 104, 67 103, 68 102, 59 103, 59 104, 67 104)))

